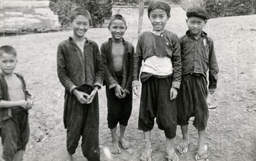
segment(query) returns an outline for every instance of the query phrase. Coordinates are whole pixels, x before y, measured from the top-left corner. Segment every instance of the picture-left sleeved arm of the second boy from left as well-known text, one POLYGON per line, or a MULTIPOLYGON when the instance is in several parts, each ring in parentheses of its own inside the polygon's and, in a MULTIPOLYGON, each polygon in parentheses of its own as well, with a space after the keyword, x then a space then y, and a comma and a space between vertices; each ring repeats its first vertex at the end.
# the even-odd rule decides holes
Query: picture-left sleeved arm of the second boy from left
POLYGON ((57 72, 60 83, 71 93, 77 86, 75 86, 68 76, 67 63, 61 45, 58 46, 57 52, 57 72))

